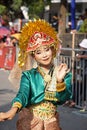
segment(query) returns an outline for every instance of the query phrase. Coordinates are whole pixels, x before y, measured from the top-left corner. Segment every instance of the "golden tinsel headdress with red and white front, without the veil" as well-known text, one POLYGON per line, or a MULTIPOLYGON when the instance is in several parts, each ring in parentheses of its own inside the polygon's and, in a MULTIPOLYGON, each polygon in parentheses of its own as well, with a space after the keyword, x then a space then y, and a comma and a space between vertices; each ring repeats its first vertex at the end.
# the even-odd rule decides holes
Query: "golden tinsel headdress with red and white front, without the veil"
POLYGON ((48 22, 41 19, 29 21, 21 30, 18 55, 19 66, 24 66, 28 52, 34 51, 40 44, 53 46, 56 55, 58 43, 57 32, 48 22))

